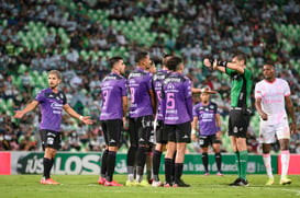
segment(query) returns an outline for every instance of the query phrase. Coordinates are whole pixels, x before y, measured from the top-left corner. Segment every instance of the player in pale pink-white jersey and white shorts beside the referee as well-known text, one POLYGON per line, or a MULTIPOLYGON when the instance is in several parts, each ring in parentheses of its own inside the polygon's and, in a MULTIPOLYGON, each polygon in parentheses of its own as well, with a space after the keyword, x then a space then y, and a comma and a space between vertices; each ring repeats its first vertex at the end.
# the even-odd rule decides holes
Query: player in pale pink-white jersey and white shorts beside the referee
POLYGON ((281 178, 279 184, 291 184, 287 173, 290 155, 290 132, 296 132, 296 117, 290 100, 290 88, 287 81, 276 78, 276 70, 273 65, 266 63, 264 66, 264 77, 265 79, 255 85, 255 106, 260 116, 259 141, 263 144, 263 160, 268 175, 266 185, 274 184, 270 143, 275 142, 275 135, 279 140, 281 150, 281 178), (290 128, 286 105, 292 120, 290 128))

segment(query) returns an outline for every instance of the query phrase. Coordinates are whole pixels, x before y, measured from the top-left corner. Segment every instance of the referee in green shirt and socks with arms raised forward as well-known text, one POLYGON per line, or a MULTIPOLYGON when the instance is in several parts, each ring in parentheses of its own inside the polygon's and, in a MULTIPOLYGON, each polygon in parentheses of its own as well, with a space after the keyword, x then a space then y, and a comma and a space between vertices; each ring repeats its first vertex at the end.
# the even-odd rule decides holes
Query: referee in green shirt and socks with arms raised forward
POLYGON ((247 172, 247 144, 246 133, 249 124, 249 95, 253 84, 253 74, 246 68, 246 56, 236 54, 233 56, 232 62, 218 61, 213 62, 204 59, 207 67, 226 73, 232 81, 231 88, 231 112, 229 119, 229 136, 235 155, 238 177, 230 184, 230 186, 248 186, 246 179, 247 172))

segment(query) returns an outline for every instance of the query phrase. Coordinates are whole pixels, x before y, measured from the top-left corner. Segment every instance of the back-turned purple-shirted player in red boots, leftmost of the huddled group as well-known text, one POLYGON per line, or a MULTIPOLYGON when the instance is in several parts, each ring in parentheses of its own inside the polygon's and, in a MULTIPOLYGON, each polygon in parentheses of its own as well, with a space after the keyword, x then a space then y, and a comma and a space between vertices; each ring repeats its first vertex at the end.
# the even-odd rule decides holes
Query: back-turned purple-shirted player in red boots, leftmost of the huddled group
POLYGON ((122 119, 125 120, 127 112, 126 79, 122 77, 125 73, 125 65, 121 57, 113 57, 109 59, 109 66, 111 73, 101 83, 102 107, 100 120, 107 148, 102 154, 101 176, 98 183, 104 186, 123 186, 113 180, 113 172, 123 127, 122 119))

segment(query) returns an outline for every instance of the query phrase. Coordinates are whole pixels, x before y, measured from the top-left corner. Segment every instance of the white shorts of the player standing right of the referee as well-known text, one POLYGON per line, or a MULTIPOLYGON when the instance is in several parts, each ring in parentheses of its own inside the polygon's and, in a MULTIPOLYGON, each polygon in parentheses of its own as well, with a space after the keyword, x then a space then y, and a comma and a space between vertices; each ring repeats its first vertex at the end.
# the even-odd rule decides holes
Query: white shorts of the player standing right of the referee
POLYGON ((290 139, 290 128, 287 119, 284 119, 279 124, 271 125, 267 121, 260 120, 259 142, 273 143, 276 141, 275 135, 278 140, 290 139))

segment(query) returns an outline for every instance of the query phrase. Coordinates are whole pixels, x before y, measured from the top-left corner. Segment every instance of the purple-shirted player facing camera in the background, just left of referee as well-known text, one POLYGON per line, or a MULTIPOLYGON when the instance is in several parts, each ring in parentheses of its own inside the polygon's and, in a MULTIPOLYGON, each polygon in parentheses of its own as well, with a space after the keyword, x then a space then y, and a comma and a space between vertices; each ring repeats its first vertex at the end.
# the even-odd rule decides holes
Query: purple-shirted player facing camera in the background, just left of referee
POLYGON ((202 163, 204 166, 204 175, 209 175, 209 155, 208 147, 212 145, 215 153, 215 162, 218 168, 218 176, 222 176, 221 163, 222 156, 220 153, 220 114, 218 113, 218 105, 210 101, 210 94, 216 93, 211 91, 210 88, 203 88, 200 94, 201 102, 193 106, 193 121, 191 139, 197 141, 197 136, 199 138, 199 144, 202 152, 202 163), (197 132, 197 125, 199 124, 199 130, 197 132))

